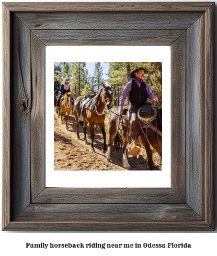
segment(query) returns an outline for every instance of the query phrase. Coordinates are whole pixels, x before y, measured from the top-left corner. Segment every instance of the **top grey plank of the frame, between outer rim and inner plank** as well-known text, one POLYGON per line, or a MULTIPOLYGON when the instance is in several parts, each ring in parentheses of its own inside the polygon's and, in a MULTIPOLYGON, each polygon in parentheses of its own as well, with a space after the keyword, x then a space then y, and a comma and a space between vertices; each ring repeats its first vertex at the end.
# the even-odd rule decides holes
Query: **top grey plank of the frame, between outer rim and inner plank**
POLYGON ((138 26, 144 29, 170 30, 187 29, 202 14, 203 12, 72 12, 67 13, 67 16, 62 13, 17 13, 17 16, 31 30, 108 28, 133 30, 138 26))

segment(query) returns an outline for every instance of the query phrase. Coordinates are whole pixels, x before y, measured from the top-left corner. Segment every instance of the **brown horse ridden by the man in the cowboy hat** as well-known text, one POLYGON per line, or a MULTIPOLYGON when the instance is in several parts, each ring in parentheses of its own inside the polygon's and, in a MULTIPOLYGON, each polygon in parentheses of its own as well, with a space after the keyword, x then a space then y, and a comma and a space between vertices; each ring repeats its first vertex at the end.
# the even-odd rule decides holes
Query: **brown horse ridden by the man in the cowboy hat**
MULTIPOLYGON (((127 139, 127 127, 122 125, 120 118, 118 118, 118 111, 113 112, 109 118, 109 140, 108 140, 108 150, 106 152, 106 159, 110 161, 110 148, 112 142, 114 144, 114 150, 119 151, 121 150, 123 154, 123 167, 127 170, 130 170, 130 165, 128 163, 127 155, 126 155, 126 147, 128 145, 127 139), (120 130, 118 130, 118 128, 120 130), (118 131, 117 131, 118 130, 118 131)), ((156 124, 155 120, 151 122, 153 126, 162 132, 162 109, 159 109, 158 114, 156 116, 156 124)), ((153 170, 154 163, 153 163, 153 152, 157 151, 158 154, 162 157, 162 137, 157 135, 155 131, 151 128, 147 129, 147 137, 145 136, 145 128, 141 131, 139 136, 139 141, 142 147, 145 148, 147 154, 147 161, 149 164, 149 169, 153 170), (149 141, 147 141, 147 139, 149 141), (152 148, 150 147, 152 145, 152 148), (159 147, 158 147, 159 145, 159 147)))

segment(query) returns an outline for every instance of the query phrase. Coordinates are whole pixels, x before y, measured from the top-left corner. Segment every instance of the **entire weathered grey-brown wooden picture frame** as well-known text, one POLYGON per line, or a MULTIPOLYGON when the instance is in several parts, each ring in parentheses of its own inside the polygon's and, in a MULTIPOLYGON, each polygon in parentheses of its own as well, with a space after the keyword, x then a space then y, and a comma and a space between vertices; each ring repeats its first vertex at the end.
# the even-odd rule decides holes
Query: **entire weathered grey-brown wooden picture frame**
POLYGON ((214 229, 213 10, 214 3, 3 4, 3 230, 214 229), (56 44, 171 46, 171 188, 45 188, 45 45, 56 44))

